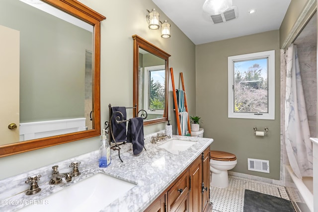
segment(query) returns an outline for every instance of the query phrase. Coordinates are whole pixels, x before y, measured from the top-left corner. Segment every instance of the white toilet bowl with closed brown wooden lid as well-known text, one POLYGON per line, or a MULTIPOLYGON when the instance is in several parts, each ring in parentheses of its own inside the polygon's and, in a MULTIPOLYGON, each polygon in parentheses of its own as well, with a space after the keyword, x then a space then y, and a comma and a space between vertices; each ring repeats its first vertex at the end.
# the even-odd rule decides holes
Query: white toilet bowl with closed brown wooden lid
POLYGON ((235 154, 225 151, 210 151, 211 186, 226 188, 229 186, 228 170, 238 163, 235 154))

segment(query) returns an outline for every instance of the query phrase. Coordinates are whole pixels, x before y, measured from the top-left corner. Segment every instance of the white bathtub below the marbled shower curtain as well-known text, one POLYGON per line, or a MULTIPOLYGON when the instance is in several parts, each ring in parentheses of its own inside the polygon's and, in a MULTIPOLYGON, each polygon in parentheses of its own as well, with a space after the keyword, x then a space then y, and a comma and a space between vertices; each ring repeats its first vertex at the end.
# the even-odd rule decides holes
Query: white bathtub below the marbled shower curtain
MULTIPOLYGON (((303 177, 299 179, 293 172, 292 168, 289 165, 286 165, 286 171, 289 173, 292 182, 287 182, 286 178, 286 187, 289 196, 293 202, 293 205, 297 212, 314 212, 314 195, 313 195, 313 177, 303 177), (291 184, 294 183, 298 189, 297 192, 293 192, 293 187, 291 184)), ((286 173, 287 174, 287 173, 286 173)))

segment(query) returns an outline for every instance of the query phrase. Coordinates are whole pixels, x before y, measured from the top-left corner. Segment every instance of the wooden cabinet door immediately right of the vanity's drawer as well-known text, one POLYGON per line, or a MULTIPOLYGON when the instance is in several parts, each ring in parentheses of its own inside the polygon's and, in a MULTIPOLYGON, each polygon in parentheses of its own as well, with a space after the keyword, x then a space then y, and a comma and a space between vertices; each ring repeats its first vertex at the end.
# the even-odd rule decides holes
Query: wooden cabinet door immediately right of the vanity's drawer
POLYGON ((199 156, 190 170, 189 212, 202 212, 202 159, 199 156))

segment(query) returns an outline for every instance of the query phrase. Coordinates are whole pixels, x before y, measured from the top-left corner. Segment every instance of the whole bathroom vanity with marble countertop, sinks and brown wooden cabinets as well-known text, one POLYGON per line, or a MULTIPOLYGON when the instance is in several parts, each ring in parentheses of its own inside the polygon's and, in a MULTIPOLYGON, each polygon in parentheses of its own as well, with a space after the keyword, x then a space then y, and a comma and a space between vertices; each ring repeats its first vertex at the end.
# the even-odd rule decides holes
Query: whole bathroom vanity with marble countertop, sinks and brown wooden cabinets
POLYGON ((0 199, 7 204, 1 204, 0 211, 63 209, 72 212, 76 210, 74 199, 77 200, 77 210, 88 206, 89 211, 209 210, 209 152, 213 140, 173 136, 172 140, 187 141, 191 145, 183 149, 175 142, 165 148, 163 144, 171 139, 151 143, 151 136, 145 138, 147 151, 144 150, 139 156, 133 155, 131 144, 123 145, 123 163, 118 158, 118 152, 113 151, 111 165, 107 168, 98 167, 98 151, 94 151, 1 180, 0 199), (174 151, 171 153, 167 149, 174 151), (58 165, 60 173, 71 172, 69 165, 76 161, 81 161, 79 176, 73 177, 71 182, 63 179, 58 185, 49 184, 52 166, 58 165), (38 182, 41 191, 26 195, 29 185, 25 184, 25 180, 39 174, 42 175, 38 182))

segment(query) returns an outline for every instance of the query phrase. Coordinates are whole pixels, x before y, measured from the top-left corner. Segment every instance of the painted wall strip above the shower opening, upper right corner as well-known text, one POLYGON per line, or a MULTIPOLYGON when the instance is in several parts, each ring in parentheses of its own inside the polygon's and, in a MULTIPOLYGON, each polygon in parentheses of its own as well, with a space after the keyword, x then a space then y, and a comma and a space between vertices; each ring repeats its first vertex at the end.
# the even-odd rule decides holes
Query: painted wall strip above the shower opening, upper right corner
POLYGON ((291 0, 279 29, 281 48, 308 1, 309 0, 291 0))

